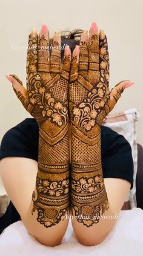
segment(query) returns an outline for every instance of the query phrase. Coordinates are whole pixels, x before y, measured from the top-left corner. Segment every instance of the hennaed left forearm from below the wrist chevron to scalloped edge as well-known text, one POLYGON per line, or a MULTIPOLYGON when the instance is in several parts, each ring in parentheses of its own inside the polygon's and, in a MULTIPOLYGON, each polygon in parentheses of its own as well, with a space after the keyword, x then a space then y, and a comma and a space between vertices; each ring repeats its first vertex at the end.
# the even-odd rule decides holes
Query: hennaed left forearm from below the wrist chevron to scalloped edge
POLYGON ((33 211, 38 210, 38 221, 44 226, 61 221, 69 207, 68 132, 57 143, 49 143, 48 135, 39 133, 38 172, 32 199, 33 211))

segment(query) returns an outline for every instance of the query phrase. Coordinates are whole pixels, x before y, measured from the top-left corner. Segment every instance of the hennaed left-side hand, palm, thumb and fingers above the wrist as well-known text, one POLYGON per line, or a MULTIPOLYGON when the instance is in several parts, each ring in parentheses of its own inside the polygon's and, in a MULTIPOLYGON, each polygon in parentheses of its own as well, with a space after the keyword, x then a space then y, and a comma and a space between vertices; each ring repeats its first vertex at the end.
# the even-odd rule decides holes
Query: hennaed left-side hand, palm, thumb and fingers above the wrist
MULTIPOLYGON (((39 34, 32 30, 27 51, 27 89, 15 75, 6 76, 26 110, 38 125, 45 121, 58 127, 68 123, 68 79, 71 51, 65 47, 61 68, 61 37, 55 33, 52 52, 49 53, 47 26, 39 34)), ((45 126, 44 126, 45 127, 45 126)))

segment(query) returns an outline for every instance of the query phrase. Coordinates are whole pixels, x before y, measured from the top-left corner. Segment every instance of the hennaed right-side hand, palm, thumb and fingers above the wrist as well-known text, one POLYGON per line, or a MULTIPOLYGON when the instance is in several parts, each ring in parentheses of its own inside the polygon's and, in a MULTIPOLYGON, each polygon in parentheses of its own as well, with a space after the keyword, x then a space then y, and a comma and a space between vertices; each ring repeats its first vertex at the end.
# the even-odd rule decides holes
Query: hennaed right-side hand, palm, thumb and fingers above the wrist
POLYGON ((101 127, 103 119, 113 109, 124 89, 132 84, 125 80, 109 90, 107 38, 103 30, 98 33, 98 27, 93 23, 90 39, 85 31, 71 61, 71 123, 91 137, 101 127))

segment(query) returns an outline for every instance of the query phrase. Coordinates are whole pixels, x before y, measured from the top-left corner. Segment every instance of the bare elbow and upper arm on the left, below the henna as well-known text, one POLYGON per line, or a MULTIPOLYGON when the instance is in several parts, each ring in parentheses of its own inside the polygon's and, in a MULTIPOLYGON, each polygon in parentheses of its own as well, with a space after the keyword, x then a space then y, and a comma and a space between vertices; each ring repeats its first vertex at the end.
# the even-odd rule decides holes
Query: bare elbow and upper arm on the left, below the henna
POLYGON ((35 188, 38 163, 24 157, 5 157, 0 161, 0 175, 10 200, 21 216, 28 233, 47 246, 61 243, 68 226, 68 218, 53 227, 45 228, 33 213, 32 193, 35 188))

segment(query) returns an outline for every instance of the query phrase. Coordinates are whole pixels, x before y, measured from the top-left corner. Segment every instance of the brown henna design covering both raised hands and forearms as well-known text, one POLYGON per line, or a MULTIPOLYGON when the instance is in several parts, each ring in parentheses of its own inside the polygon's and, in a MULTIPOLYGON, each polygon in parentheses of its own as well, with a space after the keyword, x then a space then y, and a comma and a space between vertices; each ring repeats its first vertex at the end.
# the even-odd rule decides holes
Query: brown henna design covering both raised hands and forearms
MULTIPOLYGON (((70 210, 87 227, 108 210, 101 163, 101 125, 124 91, 109 91, 107 38, 96 24, 85 31, 80 46, 65 47, 61 68, 61 38, 55 33, 49 54, 48 30, 29 36, 27 90, 15 75, 13 90, 39 126, 39 154, 33 209, 44 227, 52 227, 70 210), (80 48, 80 54, 79 54, 80 48), (71 64, 71 66, 70 66, 71 64), (69 84, 70 77, 70 84, 69 84), (69 191, 68 107, 71 121, 71 191, 69 191), (78 216, 86 218, 78 218, 78 216), (98 218, 96 218, 98 217, 98 218)), ((12 77, 11 77, 12 78, 12 77)), ((12 82, 10 77, 8 80, 12 82)), ((129 86, 131 86, 130 83, 129 86)))

